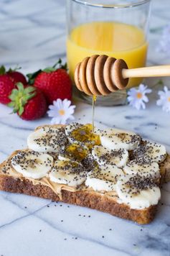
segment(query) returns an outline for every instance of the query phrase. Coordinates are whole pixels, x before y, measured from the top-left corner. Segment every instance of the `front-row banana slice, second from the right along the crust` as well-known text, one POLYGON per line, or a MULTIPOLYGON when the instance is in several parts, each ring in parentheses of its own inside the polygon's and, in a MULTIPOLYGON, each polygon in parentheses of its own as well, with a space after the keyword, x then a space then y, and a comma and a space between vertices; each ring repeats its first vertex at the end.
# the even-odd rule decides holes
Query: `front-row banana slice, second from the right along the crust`
POLYGON ((117 179, 123 174, 123 170, 115 165, 100 166, 88 173, 85 185, 94 191, 113 191, 117 179))

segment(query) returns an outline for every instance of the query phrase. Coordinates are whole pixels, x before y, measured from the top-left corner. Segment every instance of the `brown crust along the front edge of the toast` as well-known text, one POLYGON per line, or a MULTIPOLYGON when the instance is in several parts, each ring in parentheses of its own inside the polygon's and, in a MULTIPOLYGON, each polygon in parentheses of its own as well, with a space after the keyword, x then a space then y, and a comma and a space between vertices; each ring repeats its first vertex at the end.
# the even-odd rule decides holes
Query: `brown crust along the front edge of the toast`
MULTIPOLYGON (((29 196, 39 196, 41 198, 59 201, 60 198, 51 188, 44 185, 33 185, 26 178, 13 178, 8 175, 0 175, 0 190, 11 193, 24 193, 29 196)), ((103 196, 95 191, 70 192, 62 190, 62 201, 67 204, 85 206, 98 211, 103 211, 113 216, 136 221, 138 224, 148 224, 154 219, 156 206, 147 209, 131 209, 126 204, 118 204, 109 196, 103 196)))

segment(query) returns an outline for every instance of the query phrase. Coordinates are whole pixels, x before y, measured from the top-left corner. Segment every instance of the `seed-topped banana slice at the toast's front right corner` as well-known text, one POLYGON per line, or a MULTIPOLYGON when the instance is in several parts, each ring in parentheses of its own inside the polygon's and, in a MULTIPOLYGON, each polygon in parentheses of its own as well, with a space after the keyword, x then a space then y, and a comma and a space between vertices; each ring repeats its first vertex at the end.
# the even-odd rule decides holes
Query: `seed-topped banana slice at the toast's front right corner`
POLYGON ((161 198, 160 189, 151 175, 147 178, 138 174, 122 176, 115 186, 115 191, 121 199, 118 202, 128 204, 131 209, 148 208, 158 204, 161 198))

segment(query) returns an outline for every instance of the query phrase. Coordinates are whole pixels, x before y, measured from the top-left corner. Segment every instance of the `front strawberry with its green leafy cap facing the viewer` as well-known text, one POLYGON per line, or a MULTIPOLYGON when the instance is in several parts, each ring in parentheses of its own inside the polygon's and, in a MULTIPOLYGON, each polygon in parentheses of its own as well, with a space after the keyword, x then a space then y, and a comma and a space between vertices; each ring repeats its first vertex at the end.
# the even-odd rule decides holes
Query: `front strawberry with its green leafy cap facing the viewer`
POLYGON ((42 91, 34 86, 26 86, 22 83, 16 83, 9 96, 11 102, 8 106, 14 107, 14 113, 17 113, 24 120, 38 119, 47 111, 47 102, 42 91))

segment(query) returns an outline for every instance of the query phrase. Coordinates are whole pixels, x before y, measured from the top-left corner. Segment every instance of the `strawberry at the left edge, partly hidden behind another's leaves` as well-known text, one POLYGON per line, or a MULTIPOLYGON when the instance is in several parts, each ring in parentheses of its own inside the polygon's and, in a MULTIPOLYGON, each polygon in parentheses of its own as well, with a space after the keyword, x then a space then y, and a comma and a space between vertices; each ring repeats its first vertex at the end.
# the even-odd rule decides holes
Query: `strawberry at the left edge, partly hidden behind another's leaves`
POLYGON ((11 101, 9 95, 15 88, 15 84, 20 81, 24 85, 27 84, 27 80, 22 73, 11 70, 11 68, 6 72, 3 65, 0 67, 0 103, 8 104, 11 101))

